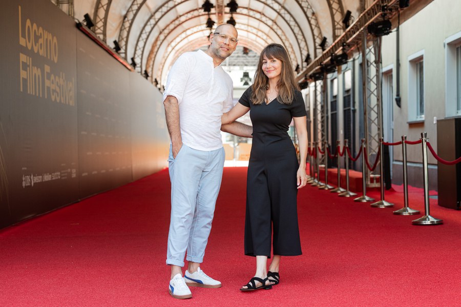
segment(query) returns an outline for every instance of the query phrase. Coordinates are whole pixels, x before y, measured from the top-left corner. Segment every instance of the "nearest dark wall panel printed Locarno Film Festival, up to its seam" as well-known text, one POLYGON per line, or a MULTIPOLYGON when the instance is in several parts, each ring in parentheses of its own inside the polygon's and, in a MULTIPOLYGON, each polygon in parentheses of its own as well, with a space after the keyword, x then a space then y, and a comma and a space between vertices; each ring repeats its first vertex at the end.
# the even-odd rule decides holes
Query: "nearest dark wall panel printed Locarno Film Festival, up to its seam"
POLYGON ((0 28, 2 227, 75 201, 78 159, 75 22, 49 1, 7 1, 0 28))

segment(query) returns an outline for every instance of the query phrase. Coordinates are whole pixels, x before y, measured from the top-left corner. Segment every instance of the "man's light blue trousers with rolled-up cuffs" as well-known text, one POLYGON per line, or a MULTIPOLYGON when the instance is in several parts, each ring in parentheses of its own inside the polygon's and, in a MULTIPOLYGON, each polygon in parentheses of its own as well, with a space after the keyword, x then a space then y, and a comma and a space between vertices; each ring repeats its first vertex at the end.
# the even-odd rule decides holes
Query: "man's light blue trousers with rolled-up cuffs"
POLYGON ((182 145, 173 159, 170 146, 171 220, 166 264, 201 263, 211 231, 216 199, 221 186, 225 153, 195 150, 182 145))

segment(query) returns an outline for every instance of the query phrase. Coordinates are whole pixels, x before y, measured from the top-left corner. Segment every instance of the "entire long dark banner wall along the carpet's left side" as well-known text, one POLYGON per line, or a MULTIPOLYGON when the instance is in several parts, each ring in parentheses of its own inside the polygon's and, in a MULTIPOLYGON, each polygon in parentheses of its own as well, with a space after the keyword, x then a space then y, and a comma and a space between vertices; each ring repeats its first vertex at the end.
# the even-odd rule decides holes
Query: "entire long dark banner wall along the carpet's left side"
POLYGON ((48 0, 2 3, 0 27, 0 228, 166 167, 149 81, 48 0))

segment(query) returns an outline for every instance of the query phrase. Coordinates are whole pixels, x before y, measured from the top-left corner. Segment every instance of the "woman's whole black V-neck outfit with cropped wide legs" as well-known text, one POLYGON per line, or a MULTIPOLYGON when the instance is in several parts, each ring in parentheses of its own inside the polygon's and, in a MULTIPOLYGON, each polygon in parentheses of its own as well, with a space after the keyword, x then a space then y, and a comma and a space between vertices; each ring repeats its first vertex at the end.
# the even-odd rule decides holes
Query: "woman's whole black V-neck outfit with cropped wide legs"
POLYGON ((274 99, 268 105, 250 102, 252 87, 239 99, 250 108, 253 145, 246 188, 245 255, 270 258, 271 227, 274 255, 301 255, 297 213, 299 168, 295 147, 288 135, 292 117, 306 116, 302 94, 296 91, 291 105, 274 99))

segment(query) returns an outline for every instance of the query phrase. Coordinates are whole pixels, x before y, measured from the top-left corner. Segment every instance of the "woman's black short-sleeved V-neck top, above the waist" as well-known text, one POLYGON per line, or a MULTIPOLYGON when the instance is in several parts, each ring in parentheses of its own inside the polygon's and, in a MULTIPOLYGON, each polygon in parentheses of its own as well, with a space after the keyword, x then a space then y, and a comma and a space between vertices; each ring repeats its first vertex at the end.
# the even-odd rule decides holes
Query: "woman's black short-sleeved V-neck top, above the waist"
POLYGON ((295 99, 291 105, 279 103, 277 98, 266 104, 254 105, 250 101, 253 86, 246 89, 239 103, 250 108, 250 119, 253 124, 253 133, 264 133, 288 136, 288 126, 292 117, 306 116, 303 96, 300 91, 295 91, 295 99))

